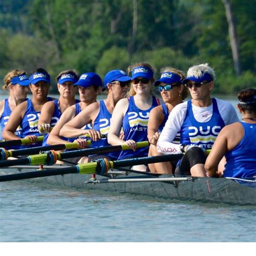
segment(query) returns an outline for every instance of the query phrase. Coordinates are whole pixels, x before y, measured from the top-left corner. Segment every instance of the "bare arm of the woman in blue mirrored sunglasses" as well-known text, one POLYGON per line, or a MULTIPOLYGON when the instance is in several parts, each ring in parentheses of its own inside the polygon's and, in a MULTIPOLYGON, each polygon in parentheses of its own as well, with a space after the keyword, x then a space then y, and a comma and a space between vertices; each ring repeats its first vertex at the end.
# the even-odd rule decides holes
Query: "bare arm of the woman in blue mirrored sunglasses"
POLYGON ((147 138, 150 144, 157 145, 157 140, 160 136, 158 132, 159 126, 164 122, 163 107, 154 107, 149 114, 149 123, 147 124, 147 138))

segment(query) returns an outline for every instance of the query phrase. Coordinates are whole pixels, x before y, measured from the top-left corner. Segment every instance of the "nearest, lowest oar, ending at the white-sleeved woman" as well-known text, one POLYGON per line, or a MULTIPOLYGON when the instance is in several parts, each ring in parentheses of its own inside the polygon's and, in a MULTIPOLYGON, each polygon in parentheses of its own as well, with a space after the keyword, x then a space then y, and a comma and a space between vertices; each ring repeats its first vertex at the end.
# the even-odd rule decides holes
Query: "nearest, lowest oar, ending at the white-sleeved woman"
POLYGON ((63 174, 69 174, 69 173, 106 174, 109 171, 109 169, 113 169, 117 167, 124 167, 124 166, 138 165, 138 164, 153 164, 153 163, 159 163, 163 161, 178 160, 181 157, 183 157, 183 154, 166 154, 164 156, 140 157, 140 158, 132 158, 132 159, 124 159, 124 160, 116 160, 116 161, 107 161, 106 159, 98 159, 97 161, 92 163, 78 164, 70 167, 60 167, 59 169, 49 169, 49 170, 43 170, 43 171, 4 175, 4 176, 0 176, 0 182, 63 175, 63 174))

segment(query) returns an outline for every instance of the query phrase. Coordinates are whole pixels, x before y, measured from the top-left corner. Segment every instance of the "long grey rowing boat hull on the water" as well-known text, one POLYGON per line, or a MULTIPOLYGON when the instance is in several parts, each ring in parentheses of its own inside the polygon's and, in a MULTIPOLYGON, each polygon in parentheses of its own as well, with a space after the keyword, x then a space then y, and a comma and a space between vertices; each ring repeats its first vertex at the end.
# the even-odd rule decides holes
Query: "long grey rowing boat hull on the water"
POLYGON ((90 174, 65 174, 31 180, 83 190, 126 193, 154 199, 256 206, 255 179, 246 181, 235 178, 174 177, 170 174, 152 176, 147 173, 130 173, 129 169, 123 170, 112 170, 106 177, 97 175, 95 180, 91 179, 90 174))

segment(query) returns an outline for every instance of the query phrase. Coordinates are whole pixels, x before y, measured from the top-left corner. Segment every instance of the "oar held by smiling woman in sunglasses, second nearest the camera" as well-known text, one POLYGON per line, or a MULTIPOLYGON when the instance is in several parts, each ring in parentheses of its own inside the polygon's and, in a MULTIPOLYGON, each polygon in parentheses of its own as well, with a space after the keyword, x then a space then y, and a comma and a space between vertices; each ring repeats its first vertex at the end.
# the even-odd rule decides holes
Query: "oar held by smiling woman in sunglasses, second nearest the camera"
MULTIPOLYGON (((149 142, 137 142, 136 147, 139 149, 140 147, 149 146, 149 142)), ((127 145, 117 145, 117 146, 104 146, 104 147, 94 147, 93 149, 84 149, 84 150, 73 150, 70 152, 62 152, 57 153, 54 150, 48 151, 43 154, 35 154, 33 156, 15 159, 15 160, 5 160, 0 161, 0 167, 8 167, 14 165, 38 165, 38 164, 46 164, 53 165, 57 160, 62 160, 65 158, 72 157, 85 157, 90 154, 104 154, 112 151, 120 151, 120 150, 131 150, 131 148, 127 145)))

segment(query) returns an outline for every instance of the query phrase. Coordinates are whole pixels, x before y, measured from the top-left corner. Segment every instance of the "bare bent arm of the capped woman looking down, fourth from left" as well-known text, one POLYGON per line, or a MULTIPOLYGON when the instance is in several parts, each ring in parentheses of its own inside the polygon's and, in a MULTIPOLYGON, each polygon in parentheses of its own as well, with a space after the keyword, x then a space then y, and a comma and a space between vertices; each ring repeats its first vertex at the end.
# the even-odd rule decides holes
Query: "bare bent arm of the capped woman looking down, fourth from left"
POLYGON ((57 124, 53 127, 52 131, 49 133, 49 137, 47 140, 48 144, 55 145, 55 144, 67 143, 66 140, 63 140, 62 138, 60 138, 59 132, 66 123, 68 123, 71 119, 75 117, 75 113, 76 113, 75 105, 68 107, 68 109, 66 109, 63 112, 57 124))

